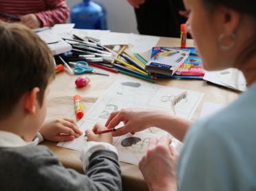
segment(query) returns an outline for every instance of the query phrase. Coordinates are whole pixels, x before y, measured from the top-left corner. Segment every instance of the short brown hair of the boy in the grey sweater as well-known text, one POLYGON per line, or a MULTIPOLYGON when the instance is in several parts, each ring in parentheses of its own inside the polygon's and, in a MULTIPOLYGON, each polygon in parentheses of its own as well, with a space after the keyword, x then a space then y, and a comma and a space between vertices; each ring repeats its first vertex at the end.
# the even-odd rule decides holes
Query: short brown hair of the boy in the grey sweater
POLYGON ((39 103, 54 78, 47 45, 28 27, 0 21, 0 120, 12 113, 24 93, 39 87, 39 103))

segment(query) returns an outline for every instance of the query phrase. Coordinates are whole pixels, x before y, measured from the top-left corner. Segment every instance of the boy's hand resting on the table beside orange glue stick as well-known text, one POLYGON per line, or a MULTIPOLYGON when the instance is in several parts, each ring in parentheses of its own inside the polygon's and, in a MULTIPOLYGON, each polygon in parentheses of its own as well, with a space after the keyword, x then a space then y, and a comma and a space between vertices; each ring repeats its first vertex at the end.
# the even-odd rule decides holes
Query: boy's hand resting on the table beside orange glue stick
POLYGON ((83 134, 76 126, 76 122, 66 117, 52 117, 45 120, 39 132, 44 139, 52 142, 71 141, 83 134))

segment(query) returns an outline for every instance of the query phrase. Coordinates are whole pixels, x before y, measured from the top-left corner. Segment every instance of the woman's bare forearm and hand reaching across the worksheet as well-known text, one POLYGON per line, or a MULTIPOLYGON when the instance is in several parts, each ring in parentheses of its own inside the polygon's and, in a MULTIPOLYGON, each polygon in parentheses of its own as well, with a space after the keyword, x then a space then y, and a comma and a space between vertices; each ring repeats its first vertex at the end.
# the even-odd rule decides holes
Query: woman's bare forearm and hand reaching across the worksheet
POLYGON ((173 115, 168 111, 157 110, 141 110, 141 109, 122 109, 109 115, 105 126, 107 128, 115 128, 124 122, 124 126, 113 132, 113 136, 125 135, 127 133, 136 133, 146 128, 156 126, 167 131, 181 142, 186 135, 186 131, 192 122, 173 115))

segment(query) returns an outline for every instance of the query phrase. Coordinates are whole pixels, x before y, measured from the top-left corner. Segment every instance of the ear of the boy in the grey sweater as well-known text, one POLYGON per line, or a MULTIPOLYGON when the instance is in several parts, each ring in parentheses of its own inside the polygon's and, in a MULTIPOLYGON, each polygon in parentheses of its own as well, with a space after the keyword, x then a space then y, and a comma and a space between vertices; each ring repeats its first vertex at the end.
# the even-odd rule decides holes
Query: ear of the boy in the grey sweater
POLYGON ((25 95, 25 109, 30 114, 34 114, 36 112, 36 105, 38 104, 38 93, 40 89, 38 87, 34 87, 30 92, 25 95))

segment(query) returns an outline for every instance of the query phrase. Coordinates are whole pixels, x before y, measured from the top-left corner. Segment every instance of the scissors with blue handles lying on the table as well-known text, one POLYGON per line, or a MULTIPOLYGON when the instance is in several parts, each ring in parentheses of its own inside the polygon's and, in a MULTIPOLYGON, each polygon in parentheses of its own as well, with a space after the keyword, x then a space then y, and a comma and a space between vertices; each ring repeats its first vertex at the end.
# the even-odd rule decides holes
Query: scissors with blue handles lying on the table
POLYGON ((78 61, 73 71, 74 71, 74 74, 93 73, 93 74, 99 74, 103 76, 109 76, 109 74, 105 73, 104 71, 99 71, 99 70, 93 69, 92 67, 89 67, 88 63, 85 61, 78 61))

